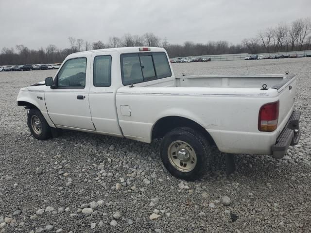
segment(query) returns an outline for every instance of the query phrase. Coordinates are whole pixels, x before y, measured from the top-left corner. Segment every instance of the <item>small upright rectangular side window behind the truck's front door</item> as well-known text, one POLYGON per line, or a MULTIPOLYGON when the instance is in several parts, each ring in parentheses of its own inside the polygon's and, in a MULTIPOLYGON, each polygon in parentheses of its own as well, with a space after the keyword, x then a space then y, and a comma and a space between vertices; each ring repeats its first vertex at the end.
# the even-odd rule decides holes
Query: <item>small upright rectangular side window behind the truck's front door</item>
POLYGON ((96 56, 93 67, 93 85, 110 86, 111 85, 111 56, 96 56))

